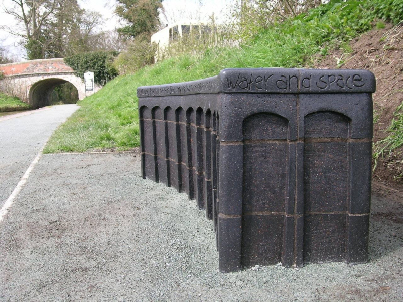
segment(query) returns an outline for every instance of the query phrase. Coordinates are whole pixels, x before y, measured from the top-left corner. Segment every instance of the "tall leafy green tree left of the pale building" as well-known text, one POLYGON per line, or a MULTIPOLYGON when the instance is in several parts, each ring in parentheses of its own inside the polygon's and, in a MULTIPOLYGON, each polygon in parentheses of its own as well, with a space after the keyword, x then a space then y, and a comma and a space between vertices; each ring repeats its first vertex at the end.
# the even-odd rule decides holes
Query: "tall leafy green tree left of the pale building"
POLYGON ((118 32, 130 38, 150 39, 158 28, 162 0, 117 0, 115 13, 127 22, 118 32))

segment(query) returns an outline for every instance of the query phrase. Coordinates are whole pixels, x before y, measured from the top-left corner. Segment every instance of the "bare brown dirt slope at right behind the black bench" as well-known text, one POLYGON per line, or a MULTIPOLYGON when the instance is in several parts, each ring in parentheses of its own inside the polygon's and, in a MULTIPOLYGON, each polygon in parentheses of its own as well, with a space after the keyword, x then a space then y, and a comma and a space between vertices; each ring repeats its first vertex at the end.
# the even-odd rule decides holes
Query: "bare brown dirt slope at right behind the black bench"
MULTIPOLYGON (((332 51, 315 68, 361 68, 376 78, 374 102, 374 141, 387 136, 396 107, 403 102, 403 24, 372 30, 351 41, 351 52, 332 51)), ((375 183, 403 191, 403 148, 380 158, 373 173, 375 183)))

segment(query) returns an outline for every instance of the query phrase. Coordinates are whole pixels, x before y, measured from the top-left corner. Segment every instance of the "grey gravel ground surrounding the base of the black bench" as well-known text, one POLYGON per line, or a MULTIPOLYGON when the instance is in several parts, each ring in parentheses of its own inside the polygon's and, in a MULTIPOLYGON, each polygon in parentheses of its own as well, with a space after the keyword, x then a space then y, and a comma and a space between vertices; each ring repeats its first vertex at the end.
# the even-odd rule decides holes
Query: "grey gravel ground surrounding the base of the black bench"
POLYGON ((221 274, 211 221, 136 153, 44 155, 0 222, 1 301, 399 301, 403 204, 373 196, 368 264, 221 274), (135 157, 136 156, 136 157, 135 157))

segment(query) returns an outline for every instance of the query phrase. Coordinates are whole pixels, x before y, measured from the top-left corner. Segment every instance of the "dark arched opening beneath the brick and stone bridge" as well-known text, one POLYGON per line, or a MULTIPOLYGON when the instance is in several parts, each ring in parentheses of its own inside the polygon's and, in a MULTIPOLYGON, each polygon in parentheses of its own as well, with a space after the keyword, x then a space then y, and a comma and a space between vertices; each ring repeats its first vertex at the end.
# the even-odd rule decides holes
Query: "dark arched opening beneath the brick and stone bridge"
POLYGON ((70 82, 51 78, 36 82, 29 90, 29 104, 33 108, 56 104, 75 104, 79 99, 77 88, 70 82))

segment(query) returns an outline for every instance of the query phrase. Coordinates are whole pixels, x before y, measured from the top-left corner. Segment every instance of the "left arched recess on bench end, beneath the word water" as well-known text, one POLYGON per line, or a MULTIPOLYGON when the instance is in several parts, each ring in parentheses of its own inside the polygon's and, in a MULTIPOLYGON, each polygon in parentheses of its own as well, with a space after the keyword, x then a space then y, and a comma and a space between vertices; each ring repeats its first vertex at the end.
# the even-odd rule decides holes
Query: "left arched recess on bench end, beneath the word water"
MULTIPOLYGON (((242 266, 276 264, 287 260, 294 225, 285 217, 289 182, 289 121, 276 114, 258 113, 242 124, 243 196, 242 266), (254 213, 276 213, 259 214, 254 213), (246 215, 245 215, 246 214, 246 215), (286 236, 287 237, 287 236, 286 236)), ((293 255, 293 254, 291 254, 293 255)))

